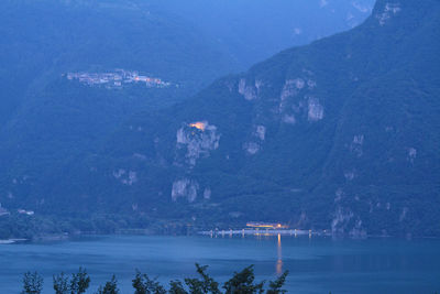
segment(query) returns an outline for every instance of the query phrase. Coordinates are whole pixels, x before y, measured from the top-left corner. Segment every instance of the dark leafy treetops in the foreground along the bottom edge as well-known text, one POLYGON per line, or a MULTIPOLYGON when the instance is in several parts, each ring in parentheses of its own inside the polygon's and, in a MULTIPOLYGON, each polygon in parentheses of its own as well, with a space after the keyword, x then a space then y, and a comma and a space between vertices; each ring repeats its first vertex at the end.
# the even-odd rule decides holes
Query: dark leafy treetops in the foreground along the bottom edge
MULTIPOLYGON (((270 281, 267 290, 265 290, 265 281, 255 282, 253 266, 248 266, 241 272, 235 272, 233 276, 224 282, 222 286, 216 282, 208 273, 208 266, 196 264, 197 274, 199 277, 187 277, 184 283, 182 281, 170 281, 169 290, 166 290, 156 280, 148 277, 148 275, 136 271, 136 275, 132 281, 134 294, 253 294, 253 293, 267 293, 267 294, 282 294, 286 293, 283 285, 286 281, 288 272, 284 272, 275 281, 270 281), (223 290, 223 291, 222 291, 223 290)), ((41 294, 43 291, 44 280, 37 272, 28 272, 23 277, 22 294, 41 294)), ((89 288, 90 276, 85 269, 79 268, 77 273, 68 275, 61 273, 54 275, 53 287, 55 294, 82 294, 89 288)), ((118 280, 113 275, 109 282, 100 286, 97 294, 118 294, 118 280)))

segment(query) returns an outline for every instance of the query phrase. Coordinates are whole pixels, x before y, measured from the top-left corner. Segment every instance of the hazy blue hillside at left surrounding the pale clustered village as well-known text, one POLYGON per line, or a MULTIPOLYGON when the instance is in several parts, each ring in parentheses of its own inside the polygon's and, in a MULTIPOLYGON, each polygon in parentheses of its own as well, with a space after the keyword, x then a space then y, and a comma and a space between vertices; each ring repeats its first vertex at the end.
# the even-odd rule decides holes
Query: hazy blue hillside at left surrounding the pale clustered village
MULTIPOLYGON (((188 21, 135 1, 7 0, 0 19, 3 205, 15 197, 9 184, 36 177, 51 183, 61 166, 92 153, 134 111, 169 106, 237 68, 237 61, 188 21), (67 78, 117 68, 170 86, 109 88, 101 78, 94 85, 67 78)), ((31 197, 29 189, 23 197, 31 197)))

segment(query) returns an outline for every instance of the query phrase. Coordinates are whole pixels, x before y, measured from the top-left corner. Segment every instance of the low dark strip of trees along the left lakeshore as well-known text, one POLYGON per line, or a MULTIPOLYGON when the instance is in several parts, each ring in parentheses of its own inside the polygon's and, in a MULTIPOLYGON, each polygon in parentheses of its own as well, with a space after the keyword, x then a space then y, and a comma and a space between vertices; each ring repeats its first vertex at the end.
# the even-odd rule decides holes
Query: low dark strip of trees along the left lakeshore
POLYGON ((78 235, 188 235, 200 229, 182 219, 161 219, 140 214, 67 214, 0 217, 0 240, 63 240, 78 235))

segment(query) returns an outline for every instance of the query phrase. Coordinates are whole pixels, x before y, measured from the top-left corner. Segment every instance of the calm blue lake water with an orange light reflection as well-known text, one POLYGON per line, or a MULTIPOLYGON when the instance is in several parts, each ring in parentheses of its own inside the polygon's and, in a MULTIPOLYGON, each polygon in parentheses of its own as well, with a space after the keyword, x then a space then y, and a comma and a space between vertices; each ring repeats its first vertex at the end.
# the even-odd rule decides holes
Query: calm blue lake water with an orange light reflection
POLYGON ((288 270, 289 293, 440 293, 440 240, 334 240, 308 237, 89 237, 53 243, 0 246, 0 293, 19 293, 22 274, 37 270, 44 293, 52 275, 80 265, 98 284, 114 273, 122 293, 133 293, 135 269, 162 282, 195 273, 195 262, 226 281, 255 264, 258 280, 288 270))

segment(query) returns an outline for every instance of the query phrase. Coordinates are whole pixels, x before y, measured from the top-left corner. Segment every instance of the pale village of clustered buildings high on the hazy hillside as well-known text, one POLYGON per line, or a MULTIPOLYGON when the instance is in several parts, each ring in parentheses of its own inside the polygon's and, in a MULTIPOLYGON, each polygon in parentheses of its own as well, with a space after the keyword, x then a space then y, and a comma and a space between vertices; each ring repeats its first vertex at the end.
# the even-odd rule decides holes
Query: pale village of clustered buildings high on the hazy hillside
POLYGON ((67 79, 78 80, 88 86, 105 86, 106 88, 122 88, 130 84, 143 83, 147 88, 167 88, 170 83, 161 78, 139 75, 134 70, 116 69, 112 73, 67 73, 67 79))

